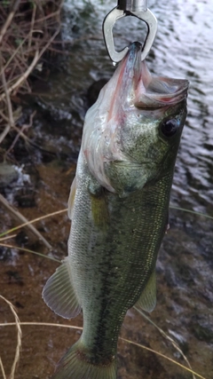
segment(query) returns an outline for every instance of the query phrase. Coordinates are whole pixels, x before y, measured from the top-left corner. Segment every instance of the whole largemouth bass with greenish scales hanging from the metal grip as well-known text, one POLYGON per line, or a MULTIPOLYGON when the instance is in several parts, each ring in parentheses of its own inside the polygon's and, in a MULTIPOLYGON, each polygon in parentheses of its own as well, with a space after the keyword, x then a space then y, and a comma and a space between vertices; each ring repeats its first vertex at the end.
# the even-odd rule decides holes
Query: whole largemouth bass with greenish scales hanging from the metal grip
POLYGON ((155 263, 168 222, 170 188, 186 115, 188 82, 153 78, 130 51, 85 117, 69 197, 68 257, 43 299, 83 334, 54 379, 115 379, 126 312, 156 303, 155 263))

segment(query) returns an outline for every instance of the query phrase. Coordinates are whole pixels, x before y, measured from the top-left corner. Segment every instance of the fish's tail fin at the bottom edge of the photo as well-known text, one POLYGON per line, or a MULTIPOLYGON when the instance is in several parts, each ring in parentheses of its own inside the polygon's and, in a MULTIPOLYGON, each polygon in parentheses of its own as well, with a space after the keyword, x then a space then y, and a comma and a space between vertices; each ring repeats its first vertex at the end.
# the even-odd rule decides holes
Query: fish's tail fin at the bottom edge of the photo
POLYGON ((60 359, 51 379, 116 379, 116 359, 99 366, 89 362, 83 355, 81 343, 75 343, 60 359))

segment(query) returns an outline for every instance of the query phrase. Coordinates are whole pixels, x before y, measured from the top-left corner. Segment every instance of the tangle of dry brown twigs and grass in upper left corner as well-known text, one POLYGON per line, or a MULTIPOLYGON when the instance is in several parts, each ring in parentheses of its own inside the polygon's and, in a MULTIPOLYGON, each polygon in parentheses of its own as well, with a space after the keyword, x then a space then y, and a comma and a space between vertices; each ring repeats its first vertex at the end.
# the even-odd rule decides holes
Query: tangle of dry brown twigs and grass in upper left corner
POLYGON ((32 119, 28 125, 18 126, 20 95, 31 91, 29 75, 38 63, 41 66, 44 52, 53 50, 62 2, 4 0, 0 4, 0 144, 11 130, 16 131, 16 140, 28 140, 25 131, 32 119))

